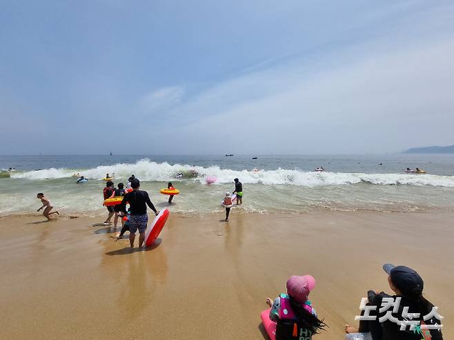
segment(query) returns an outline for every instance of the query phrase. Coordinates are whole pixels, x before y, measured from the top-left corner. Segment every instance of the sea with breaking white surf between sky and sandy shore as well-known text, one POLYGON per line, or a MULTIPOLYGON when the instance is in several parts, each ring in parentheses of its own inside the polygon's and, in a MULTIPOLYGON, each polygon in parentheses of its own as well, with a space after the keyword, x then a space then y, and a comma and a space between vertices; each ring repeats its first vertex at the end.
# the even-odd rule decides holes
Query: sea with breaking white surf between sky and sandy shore
POLYGON ((36 212, 38 192, 63 213, 105 214, 107 173, 115 185, 135 174, 158 209, 169 207, 159 190, 170 181, 180 190, 170 210, 197 216, 221 213, 235 178, 244 191, 235 213, 454 210, 454 154, 0 156, 0 169, 0 216, 36 212), (77 183, 77 174, 88 181, 77 183))

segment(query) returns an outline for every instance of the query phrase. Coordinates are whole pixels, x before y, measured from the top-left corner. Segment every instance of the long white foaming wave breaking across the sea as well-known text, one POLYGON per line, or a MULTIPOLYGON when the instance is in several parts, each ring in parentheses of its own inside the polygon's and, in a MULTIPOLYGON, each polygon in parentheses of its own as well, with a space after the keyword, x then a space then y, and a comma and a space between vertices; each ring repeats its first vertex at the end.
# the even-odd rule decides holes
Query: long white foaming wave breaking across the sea
POLYGON ((118 163, 112 166, 98 166, 91 169, 50 168, 44 170, 16 172, 15 179, 63 179, 79 172, 91 180, 101 180, 107 173, 116 181, 126 181, 131 174, 141 181, 199 181, 205 183, 206 177, 216 177, 216 184, 231 183, 236 177, 245 184, 293 185, 293 186, 344 186, 358 183, 392 186, 440 186, 454 188, 453 176, 431 174, 365 174, 347 172, 304 172, 301 170, 230 170, 219 166, 207 168, 169 163, 156 163, 141 159, 137 163, 118 163))

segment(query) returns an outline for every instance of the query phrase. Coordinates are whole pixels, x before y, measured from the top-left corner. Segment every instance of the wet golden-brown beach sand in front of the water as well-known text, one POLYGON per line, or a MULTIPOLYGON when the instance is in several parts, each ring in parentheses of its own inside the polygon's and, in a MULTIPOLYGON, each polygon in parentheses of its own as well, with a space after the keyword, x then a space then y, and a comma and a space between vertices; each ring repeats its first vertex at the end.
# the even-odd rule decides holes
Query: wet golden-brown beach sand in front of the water
POLYGON ((453 212, 221 217, 171 214, 137 252, 102 217, 0 218, 0 339, 266 339, 259 314, 291 274, 317 279, 315 339, 344 339, 366 291, 389 292, 387 262, 420 272, 453 339, 453 212))

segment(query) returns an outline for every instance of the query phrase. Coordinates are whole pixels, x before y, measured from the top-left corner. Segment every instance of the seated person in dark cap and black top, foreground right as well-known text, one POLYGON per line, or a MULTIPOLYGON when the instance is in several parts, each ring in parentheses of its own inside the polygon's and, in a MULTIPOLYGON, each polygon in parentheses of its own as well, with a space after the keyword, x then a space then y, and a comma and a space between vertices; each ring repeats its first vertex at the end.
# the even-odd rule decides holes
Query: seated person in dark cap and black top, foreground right
MULTIPOLYGON (((374 306, 375 308, 370 312, 370 316, 377 316, 375 320, 359 321, 359 329, 346 325, 346 333, 356 332, 370 332, 373 340, 442 340, 441 320, 437 313, 432 315, 433 304, 427 301, 422 296, 424 289, 424 281, 415 270, 406 266, 393 266, 392 264, 385 264, 383 270, 388 274, 388 283, 395 292, 395 294, 388 295, 384 292, 374 292, 369 290, 367 292, 368 303, 366 306, 374 306), (400 303, 397 312, 394 312, 391 306, 388 310, 382 310, 382 300, 391 298, 397 302, 400 298, 400 303), (390 317, 386 317, 379 321, 380 318, 387 315, 387 312, 393 311, 390 317), (409 315, 411 313, 419 314, 409 315), (426 315, 431 317, 424 320, 426 315), (407 324, 404 330, 401 330, 401 323, 399 321, 418 321, 419 326, 410 330, 410 325, 407 324), (433 329, 426 329, 422 325, 430 326, 433 329)), ((389 315, 387 315, 389 316, 389 315)), ((441 317, 440 317, 441 318, 441 317)))

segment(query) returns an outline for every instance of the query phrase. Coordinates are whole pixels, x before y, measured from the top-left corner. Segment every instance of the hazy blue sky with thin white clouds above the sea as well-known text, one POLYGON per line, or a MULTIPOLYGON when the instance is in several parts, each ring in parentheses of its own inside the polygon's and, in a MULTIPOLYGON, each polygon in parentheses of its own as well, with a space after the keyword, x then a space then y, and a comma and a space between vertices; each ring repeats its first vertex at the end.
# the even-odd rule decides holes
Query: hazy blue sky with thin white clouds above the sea
POLYGON ((454 2, 0 4, 0 154, 454 144, 454 2))

